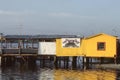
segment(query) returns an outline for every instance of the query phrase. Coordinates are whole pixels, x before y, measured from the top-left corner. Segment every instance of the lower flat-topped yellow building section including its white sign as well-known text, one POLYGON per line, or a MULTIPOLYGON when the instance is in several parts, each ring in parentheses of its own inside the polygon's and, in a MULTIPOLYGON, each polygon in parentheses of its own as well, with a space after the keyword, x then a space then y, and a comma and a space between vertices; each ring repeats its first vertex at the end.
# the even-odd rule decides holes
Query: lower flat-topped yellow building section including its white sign
POLYGON ((57 56, 79 56, 82 54, 82 39, 60 38, 56 39, 57 56))

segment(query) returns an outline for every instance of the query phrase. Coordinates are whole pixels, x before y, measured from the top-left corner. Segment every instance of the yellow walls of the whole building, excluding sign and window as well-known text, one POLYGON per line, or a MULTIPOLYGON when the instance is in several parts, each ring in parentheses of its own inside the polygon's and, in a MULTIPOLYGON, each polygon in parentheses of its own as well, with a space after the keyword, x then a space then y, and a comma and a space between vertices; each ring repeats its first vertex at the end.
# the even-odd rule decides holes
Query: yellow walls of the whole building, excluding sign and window
POLYGON ((116 55, 116 37, 101 34, 80 41, 79 48, 63 48, 62 39, 56 39, 56 56, 114 57, 116 55), (105 51, 97 50, 97 43, 105 42, 105 51))

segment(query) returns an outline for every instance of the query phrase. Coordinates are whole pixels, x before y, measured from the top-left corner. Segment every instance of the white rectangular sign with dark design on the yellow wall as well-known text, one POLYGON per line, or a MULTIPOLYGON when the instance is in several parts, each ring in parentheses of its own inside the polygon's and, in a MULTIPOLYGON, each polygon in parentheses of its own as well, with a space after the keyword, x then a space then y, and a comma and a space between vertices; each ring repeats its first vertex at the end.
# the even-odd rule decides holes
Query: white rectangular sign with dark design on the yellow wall
POLYGON ((78 48, 80 47, 80 38, 62 38, 62 47, 78 48))

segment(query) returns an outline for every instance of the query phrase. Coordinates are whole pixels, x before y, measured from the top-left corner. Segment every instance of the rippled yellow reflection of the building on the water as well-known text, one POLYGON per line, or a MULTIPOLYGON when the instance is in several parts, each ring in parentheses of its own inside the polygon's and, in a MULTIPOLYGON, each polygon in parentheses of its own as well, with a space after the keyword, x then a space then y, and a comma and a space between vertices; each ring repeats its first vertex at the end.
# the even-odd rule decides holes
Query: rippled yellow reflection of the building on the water
POLYGON ((66 71, 55 70, 55 80, 115 80, 116 74, 113 71, 85 70, 66 71))

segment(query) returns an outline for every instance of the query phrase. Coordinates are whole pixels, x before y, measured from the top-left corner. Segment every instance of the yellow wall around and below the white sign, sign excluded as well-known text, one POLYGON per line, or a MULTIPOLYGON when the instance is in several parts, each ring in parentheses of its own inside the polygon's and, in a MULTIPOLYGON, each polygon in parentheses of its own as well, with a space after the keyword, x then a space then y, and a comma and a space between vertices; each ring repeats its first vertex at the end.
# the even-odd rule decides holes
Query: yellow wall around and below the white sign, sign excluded
POLYGON ((82 56, 82 41, 79 48, 63 48, 62 39, 56 39, 56 55, 57 56, 82 56))

